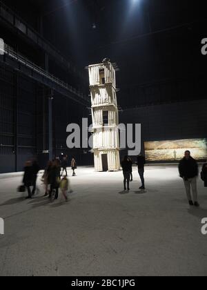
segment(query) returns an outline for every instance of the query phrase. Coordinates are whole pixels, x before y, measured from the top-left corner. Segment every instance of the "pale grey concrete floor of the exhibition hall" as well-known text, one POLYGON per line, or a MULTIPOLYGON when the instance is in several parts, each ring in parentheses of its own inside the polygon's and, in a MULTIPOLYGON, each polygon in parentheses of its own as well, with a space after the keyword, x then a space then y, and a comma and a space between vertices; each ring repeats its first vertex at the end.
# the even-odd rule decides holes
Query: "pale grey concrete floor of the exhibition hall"
POLYGON ((0 177, 0 276, 206 276, 204 184, 195 209, 177 167, 147 167, 145 192, 134 177, 124 194, 121 172, 78 168, 68 204, 48 202, 41 185, 25 200, 21 177, 0 177))

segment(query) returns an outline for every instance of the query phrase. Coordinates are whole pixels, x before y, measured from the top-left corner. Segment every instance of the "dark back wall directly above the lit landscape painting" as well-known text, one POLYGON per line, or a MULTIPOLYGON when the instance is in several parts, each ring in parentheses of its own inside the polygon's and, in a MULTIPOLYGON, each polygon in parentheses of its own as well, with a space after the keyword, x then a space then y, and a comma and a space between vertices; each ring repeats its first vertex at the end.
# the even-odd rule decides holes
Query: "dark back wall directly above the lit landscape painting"
POLYGON ((119 122, 141 124, 141 143, 207 137, 207 99, 131 108, 119 113, 119 122))

